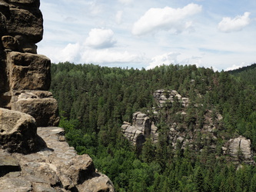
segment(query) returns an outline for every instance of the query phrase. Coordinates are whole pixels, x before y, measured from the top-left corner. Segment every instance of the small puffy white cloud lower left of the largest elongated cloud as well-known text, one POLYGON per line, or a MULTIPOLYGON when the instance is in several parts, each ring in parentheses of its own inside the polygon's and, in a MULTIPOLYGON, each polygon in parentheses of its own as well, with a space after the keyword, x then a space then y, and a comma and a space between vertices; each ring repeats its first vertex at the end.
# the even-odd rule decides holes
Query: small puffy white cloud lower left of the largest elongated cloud
POLYGON ((92 28, 86 38, 85 45, 91 48, 110 48, 116 43, 111 29, 92 28))

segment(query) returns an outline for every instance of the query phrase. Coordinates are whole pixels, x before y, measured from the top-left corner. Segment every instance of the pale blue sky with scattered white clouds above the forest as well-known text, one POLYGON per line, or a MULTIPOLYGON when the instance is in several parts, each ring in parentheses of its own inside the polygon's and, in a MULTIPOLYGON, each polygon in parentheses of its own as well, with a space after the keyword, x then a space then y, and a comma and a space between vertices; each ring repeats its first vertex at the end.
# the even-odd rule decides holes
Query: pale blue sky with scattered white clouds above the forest
POLYGON ((38 54, 121 68, 256 62, 255 0, 41 0, 38 54))

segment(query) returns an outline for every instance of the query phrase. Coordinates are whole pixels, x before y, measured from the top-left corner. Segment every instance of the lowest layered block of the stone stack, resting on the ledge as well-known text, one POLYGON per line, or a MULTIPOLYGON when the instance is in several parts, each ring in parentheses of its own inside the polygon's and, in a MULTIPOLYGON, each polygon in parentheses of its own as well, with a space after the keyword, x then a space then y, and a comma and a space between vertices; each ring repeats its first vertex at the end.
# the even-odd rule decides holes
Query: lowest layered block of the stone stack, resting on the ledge
POLYGON ((58 126, 58 102, 49 91, 16 91, 12 110, 32 115, 39 127, 58 126))

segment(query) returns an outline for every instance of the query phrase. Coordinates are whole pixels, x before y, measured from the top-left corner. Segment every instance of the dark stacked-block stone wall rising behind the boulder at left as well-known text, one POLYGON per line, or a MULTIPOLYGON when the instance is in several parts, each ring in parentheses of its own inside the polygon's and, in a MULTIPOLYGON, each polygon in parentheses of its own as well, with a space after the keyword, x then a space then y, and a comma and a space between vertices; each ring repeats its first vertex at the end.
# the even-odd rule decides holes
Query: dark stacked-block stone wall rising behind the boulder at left
POLYGON ((31 114, 38 126, 58 125, 54 98, 19 98, 23 92, 47 91, 51 61, 37 55, 43 19, 39 0, 0 0, 0 108, 31 114))

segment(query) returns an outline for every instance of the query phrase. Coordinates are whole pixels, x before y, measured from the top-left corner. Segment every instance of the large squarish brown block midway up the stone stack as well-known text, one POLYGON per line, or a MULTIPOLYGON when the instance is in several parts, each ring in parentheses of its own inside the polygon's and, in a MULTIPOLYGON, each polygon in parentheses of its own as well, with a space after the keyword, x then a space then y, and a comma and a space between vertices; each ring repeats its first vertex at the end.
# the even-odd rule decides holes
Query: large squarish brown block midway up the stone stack
POLYGON ((12 90, 45 90, 51 84, 51 61, 44 55, 9 52, 7 56, 12 90))

